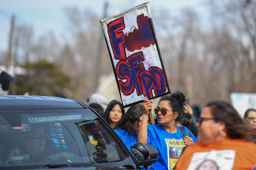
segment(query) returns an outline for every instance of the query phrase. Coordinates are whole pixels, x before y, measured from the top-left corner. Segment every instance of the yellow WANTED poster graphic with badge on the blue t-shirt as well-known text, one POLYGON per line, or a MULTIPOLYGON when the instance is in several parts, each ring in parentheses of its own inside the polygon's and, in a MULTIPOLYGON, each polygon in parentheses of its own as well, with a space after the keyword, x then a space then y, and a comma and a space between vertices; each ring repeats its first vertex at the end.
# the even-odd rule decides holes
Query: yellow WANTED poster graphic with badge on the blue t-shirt
POLYGON ((165 139, 168 153, 168 169, 173 169, 185 147, 183 139, 165 139))

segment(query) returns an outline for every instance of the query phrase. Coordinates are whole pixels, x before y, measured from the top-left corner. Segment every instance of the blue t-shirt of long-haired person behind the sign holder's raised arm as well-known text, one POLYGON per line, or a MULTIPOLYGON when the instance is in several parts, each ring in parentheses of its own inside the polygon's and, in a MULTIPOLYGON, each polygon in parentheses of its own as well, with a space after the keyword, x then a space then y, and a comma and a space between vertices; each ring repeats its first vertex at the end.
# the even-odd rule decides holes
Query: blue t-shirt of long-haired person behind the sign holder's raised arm
POLYGON ((118 134, 118 136, 122 139, 123 143, 125 143, 126 147, 131 152, 130 147, 134 142, 137 142, 138 135, 131 134, 130 136, 128 136, 129 131, 126 131, 125 129, 114 129, 114 131, 118 134))

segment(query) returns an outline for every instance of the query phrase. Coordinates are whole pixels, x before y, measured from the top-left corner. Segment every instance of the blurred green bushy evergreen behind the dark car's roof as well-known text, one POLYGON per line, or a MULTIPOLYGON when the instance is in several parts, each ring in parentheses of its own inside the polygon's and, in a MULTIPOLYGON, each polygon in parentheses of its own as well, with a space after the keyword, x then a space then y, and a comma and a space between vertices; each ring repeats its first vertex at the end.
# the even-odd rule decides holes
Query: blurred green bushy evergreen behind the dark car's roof
POLYGON ((26 62, 21 65, 25 75, 16 75, 17 95, 29 92, 39 96, 64 96, 74 93, 77 88, 72 85, 72 78, 63 72, 56 63, 47 60, 26 62))

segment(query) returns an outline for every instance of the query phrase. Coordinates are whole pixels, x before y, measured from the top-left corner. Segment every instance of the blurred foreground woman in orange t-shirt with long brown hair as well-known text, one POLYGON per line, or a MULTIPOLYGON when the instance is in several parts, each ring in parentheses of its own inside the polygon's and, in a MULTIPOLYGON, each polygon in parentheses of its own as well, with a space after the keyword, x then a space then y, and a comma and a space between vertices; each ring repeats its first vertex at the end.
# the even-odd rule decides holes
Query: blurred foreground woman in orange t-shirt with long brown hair
POLYGON ((195 169, 211 159, 222 169, 251 169, 256 164, 256 144, 248 142, 250 126, 225 101, 212 101, 203 108, 198 122, 199 142, 187 146, 175 169, 195 169))

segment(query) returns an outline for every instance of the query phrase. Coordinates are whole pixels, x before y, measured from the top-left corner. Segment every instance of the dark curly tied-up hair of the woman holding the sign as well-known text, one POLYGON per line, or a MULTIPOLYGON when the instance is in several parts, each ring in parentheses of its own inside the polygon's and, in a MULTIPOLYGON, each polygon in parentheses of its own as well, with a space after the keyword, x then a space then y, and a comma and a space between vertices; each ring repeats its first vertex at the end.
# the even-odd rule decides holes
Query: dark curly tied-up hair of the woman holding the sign
POLYGON ((173 111, 179 113, 175 121, 180 121, 181 117, 185 114, 185 95, 182 92, 177 91, 175 93, 171 93, 170 95, 161 97, 159 103, 163 100, 169 101, 169 105, 173 109, 173 111))

